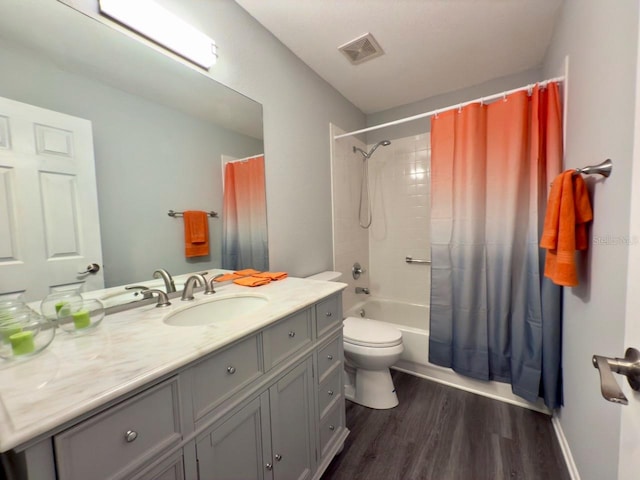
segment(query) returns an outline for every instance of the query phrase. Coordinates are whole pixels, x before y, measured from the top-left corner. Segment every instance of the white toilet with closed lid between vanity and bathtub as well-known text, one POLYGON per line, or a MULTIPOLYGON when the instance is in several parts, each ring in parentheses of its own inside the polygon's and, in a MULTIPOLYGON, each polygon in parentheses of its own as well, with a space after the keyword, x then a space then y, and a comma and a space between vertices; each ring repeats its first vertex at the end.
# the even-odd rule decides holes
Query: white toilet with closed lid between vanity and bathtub
MULTIPOLYGON (((310 280, 337 281, 340 272, 321 272, 310 280)), ((385 322, 347 317, 343 321, 345 397, 374 409, 393 408, 398 396, 389 367, 404 351, 402 332, 385 322)))

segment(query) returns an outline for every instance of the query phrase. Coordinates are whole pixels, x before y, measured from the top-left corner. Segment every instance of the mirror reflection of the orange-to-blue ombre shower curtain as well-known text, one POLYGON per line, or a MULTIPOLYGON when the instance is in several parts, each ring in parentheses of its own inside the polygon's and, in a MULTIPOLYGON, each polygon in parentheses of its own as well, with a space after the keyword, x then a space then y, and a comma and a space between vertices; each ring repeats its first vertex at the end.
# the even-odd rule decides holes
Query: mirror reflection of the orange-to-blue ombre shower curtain
POLYGON ((264 155, 225 165, 222 203, 222 268, 267 270, 264 155))

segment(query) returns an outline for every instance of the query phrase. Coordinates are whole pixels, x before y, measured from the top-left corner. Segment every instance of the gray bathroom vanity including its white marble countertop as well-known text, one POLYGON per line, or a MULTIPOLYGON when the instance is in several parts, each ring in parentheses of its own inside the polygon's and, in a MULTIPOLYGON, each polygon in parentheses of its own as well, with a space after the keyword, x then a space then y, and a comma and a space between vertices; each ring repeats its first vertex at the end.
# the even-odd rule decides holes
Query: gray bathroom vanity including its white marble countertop
POLYGON ((0 368, 4 464, 21 480, 319 478, 349 433, 344 287, 225 285, 109 315, 89 335, 58 332, 0 368), (247 314, 165 323, 249 290, 266 301, 247 314))

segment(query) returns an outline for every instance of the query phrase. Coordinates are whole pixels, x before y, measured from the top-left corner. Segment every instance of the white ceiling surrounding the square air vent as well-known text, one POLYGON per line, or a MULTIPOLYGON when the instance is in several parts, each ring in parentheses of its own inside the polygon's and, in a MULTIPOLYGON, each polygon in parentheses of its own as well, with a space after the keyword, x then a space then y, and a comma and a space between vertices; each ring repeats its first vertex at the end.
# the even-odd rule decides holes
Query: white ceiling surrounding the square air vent
POLYGON ((236 0, 364 113, 542 64, 563 0, 236 0), (370 32, 385 55, 338 47, 370 32))

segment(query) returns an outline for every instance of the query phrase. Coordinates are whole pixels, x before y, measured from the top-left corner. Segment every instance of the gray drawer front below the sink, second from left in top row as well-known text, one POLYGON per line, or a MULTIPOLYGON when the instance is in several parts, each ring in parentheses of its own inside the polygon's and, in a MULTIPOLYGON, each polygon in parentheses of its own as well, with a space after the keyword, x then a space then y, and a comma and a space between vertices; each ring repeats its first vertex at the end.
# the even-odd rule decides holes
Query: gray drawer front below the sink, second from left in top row
POLYGON ((264 373, 260 341, 252 335, 215 353, 193 369, 193 405, 197 420, 264 373))

